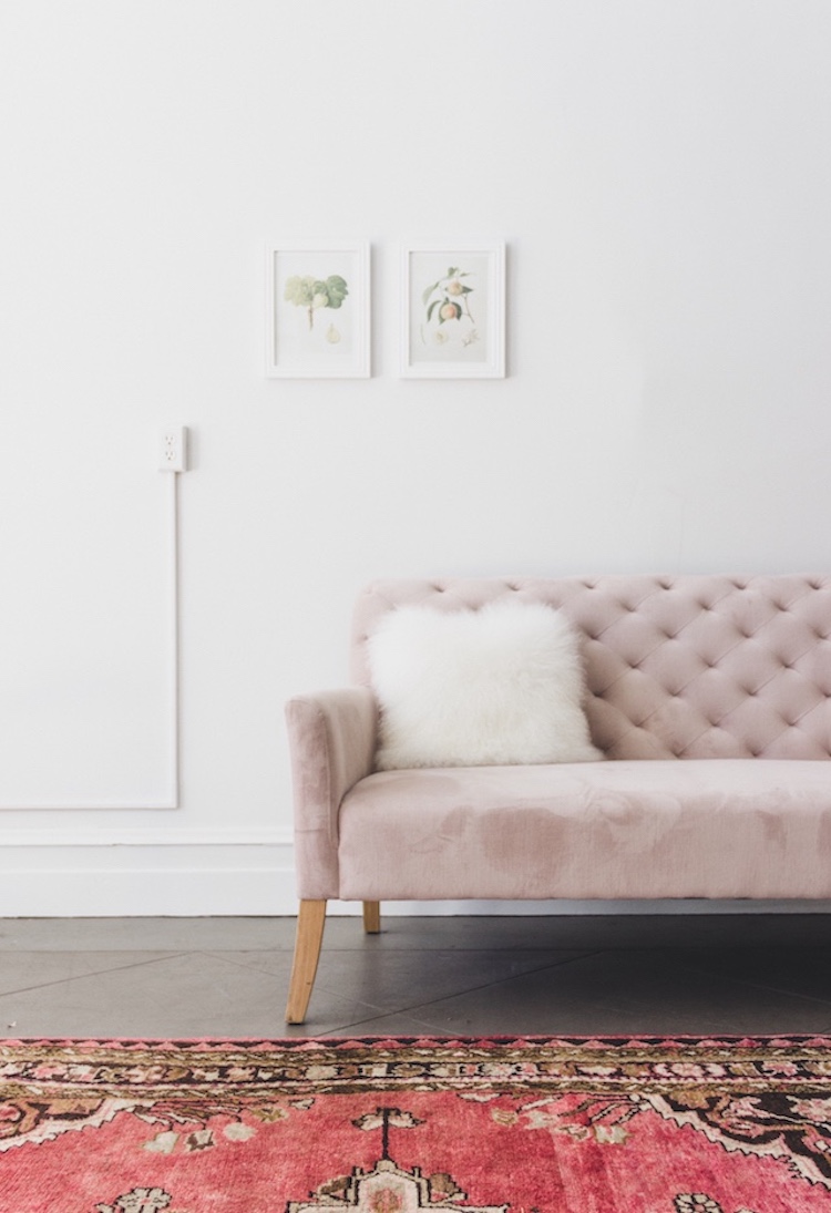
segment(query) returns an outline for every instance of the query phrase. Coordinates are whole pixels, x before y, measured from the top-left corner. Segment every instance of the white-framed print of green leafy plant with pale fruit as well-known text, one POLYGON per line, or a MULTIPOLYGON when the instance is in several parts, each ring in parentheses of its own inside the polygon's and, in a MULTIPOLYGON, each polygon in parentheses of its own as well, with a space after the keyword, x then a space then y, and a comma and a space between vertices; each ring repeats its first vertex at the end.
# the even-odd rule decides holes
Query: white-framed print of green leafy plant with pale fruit
POLYGON ((266 258, 266 374, 370 375, 370 246, 273 241, 266 258))

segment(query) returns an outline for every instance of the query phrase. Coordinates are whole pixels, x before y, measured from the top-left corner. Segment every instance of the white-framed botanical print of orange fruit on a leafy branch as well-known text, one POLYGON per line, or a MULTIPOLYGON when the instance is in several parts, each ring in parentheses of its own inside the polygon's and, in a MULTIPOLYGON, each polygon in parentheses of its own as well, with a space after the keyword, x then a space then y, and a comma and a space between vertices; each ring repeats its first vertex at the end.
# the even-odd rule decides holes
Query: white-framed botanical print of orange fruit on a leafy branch
POLYGON ((402 377, 505 377, 505 241, 404 245, 402 295, 402 377))

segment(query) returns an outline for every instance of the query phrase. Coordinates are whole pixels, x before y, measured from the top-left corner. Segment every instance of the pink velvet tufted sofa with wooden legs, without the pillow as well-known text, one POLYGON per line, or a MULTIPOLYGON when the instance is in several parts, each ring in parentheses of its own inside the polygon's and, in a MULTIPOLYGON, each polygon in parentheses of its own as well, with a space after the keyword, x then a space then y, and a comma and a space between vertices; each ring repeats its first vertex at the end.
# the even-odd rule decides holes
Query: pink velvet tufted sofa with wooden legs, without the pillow
POLYGON ((326 902, 831 898, 831 577, 378 581, 353 685, 288 705, 302 1023, 326 902), (403 604, 559 608, 599 762, 374 770, 366 640, 403 604))

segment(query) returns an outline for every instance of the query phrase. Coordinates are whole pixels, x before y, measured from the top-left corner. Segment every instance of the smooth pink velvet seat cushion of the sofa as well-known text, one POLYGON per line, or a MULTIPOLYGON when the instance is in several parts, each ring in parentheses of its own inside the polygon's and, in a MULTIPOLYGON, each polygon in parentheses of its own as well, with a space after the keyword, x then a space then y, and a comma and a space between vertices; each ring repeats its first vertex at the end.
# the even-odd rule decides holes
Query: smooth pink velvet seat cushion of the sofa
POLYGON ((829 898, 827 761, 378 771, 340 811, 346 900, 829 898))

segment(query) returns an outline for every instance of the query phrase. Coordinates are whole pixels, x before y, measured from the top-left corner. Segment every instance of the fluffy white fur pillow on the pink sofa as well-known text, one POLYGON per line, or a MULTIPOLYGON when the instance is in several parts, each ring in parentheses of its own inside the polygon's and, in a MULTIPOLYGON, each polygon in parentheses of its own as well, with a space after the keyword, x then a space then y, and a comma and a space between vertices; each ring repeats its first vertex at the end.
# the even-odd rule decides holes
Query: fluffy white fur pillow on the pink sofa
POLYGON ((369 639, 376 767, 591 762, 577 640, 542 603, 402 606, 369 639))

